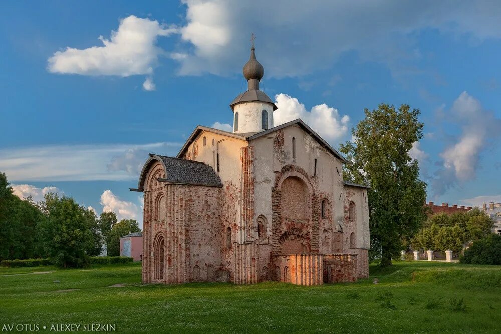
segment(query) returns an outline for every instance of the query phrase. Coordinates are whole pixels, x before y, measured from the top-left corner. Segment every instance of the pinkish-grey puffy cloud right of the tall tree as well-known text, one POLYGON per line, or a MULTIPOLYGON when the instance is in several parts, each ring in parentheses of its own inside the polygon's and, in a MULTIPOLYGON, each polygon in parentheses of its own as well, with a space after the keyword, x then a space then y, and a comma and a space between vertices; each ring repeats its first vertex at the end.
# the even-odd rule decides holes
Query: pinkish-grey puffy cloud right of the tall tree
POLYGON ((432 183, 436 195, 475 178, 481 153, 488 147, 487 143, 499 136, 501 128, 501 119, 483 109, 467 92, 462 92, 454 101, 447 119, 458 125, 461 133, 440 153, 442 165, 432 183))

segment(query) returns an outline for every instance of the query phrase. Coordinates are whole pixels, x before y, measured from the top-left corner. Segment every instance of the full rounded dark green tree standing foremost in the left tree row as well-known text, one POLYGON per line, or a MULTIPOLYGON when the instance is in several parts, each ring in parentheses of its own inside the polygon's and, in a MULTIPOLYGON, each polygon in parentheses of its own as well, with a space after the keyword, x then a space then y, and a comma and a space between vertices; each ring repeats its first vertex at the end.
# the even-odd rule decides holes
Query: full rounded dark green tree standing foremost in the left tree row
POLYGON ((88 210, 73 198, 59 198, 54 193, 45 195, 41 207, 46 213, 39 225, 45 255, 64 268, 86 265, 89 262, 87 251, 93 242, 88 210))

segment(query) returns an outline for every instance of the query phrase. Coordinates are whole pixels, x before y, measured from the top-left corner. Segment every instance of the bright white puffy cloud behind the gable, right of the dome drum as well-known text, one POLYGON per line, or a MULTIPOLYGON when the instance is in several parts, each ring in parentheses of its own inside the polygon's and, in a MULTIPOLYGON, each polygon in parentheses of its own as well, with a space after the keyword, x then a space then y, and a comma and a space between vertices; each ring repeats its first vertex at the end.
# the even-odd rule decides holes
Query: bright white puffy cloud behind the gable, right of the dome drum
POLYGON ((275 126, 301 118, 327 140, 334 141, 348 133, 350 117, 339 115, 337 109, 329 107, 325 103, 314 106, 311 111, 307 111, 304 104, 287 94, 278 94, 275 96, 275 100, 278 107, 278 110, 273 113, 275 126))

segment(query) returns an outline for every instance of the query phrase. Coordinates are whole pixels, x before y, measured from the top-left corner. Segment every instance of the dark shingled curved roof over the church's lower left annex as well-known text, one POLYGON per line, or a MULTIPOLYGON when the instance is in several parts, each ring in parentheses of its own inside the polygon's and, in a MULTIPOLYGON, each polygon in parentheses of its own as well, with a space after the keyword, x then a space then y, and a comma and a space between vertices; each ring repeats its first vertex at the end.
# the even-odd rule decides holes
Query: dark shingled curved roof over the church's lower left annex
POLYGON ((203 162, 151 153, 149 156, 139 176, 138 188, 131 190, 143 191, 146 174, 155 161, 161 162, 165 170, 165 178, 159 179, 161 182, 222 187, 221 179, 214 169, 203 162))

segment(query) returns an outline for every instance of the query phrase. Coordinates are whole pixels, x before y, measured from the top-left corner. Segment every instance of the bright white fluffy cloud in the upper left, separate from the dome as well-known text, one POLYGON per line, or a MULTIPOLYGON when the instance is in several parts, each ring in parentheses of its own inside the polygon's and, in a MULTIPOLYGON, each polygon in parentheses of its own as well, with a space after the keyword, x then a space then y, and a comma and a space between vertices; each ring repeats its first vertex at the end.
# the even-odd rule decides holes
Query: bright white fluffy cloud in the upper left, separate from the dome
POLYGON ((109 40, 99 37, 103 46, 87 49, 67 47, 48 60, 52 73, 80 75, 151 75, 163 51, 158 48, 158 36, 169 36, 178 29, 164 27, 157 21, 133 15, 120 21, 118 30, 111 32, 109 40))

